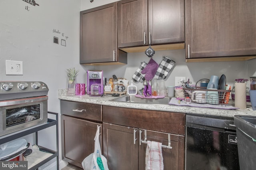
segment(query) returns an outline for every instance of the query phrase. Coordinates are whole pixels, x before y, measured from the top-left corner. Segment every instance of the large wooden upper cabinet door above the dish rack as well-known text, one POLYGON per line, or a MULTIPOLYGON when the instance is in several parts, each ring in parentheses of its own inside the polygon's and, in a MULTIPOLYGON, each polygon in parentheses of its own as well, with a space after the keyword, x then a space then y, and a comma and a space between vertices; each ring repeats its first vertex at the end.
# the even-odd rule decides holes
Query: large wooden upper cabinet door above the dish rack
POLYGON ((186 0, 185 4, 186 58, 256 54, 255 0, 186 0))

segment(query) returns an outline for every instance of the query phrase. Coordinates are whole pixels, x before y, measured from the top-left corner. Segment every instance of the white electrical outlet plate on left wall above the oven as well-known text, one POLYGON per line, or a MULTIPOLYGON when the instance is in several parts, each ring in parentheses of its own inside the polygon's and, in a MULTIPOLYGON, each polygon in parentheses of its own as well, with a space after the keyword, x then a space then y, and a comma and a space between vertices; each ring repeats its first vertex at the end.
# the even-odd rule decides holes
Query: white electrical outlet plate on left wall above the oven
POLYGON ((23 62, 5 60, 6 75, 23 75, 23 62))

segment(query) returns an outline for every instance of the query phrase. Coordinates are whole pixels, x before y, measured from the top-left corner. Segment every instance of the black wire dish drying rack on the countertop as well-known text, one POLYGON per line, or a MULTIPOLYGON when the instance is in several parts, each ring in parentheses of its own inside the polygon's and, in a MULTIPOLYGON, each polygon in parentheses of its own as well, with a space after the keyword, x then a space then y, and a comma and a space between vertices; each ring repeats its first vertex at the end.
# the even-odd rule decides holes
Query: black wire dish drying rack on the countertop
POLYGON ((205 89, 205 87, 195 87, 195 89, 183 88, 185 103, 208 103, 212 105, 227 105, 231 90, 205 89), (212 94, 218 92, 218 95, 212 94))

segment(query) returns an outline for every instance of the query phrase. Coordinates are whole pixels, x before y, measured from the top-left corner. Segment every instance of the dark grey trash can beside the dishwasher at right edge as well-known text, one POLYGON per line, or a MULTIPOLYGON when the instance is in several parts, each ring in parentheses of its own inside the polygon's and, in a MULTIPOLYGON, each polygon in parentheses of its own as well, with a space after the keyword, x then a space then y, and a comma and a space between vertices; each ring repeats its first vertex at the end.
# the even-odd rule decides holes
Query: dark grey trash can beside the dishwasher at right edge
POLYGON ((235 115, 238 159, 241 170, 256 169, 256 116, 235 115))

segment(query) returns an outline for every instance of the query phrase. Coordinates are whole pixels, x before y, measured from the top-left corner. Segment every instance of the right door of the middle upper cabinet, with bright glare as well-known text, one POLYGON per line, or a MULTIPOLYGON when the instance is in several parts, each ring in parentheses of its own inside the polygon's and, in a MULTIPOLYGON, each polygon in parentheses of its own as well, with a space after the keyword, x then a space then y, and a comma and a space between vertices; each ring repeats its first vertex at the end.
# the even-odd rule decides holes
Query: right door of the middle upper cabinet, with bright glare
POLYGON ((151 44, 184 42, 184 0, 148 0, 151 44))

